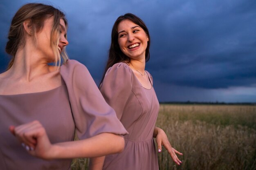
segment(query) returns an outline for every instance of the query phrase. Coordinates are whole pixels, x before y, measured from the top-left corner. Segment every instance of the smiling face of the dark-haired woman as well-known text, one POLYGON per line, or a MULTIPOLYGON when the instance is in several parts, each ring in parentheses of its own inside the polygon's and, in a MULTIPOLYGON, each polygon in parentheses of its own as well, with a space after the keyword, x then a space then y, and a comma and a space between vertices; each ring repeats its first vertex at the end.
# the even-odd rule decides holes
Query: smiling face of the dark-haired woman
POLYGON ((118 44, 121 51, 134 60, 145 60, 148 35, 137 24, 123 20, 118 24, 118 44))

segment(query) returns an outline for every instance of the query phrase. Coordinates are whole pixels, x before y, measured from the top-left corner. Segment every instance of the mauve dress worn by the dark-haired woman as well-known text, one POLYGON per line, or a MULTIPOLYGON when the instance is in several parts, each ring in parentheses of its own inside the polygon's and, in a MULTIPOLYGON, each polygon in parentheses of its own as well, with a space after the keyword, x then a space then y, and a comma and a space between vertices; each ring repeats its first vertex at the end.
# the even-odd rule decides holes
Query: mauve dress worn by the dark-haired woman
MULTIPOLYGON (((146 73, 153 85, 152 76, 146 73)), ((124 136, 124 151, 106 156, 103 170, 158 170, 153 132, 159 102, 153 86, 144 88, 131 68, 121 62, 108 69, 100 91, 129 132, 124 136)))

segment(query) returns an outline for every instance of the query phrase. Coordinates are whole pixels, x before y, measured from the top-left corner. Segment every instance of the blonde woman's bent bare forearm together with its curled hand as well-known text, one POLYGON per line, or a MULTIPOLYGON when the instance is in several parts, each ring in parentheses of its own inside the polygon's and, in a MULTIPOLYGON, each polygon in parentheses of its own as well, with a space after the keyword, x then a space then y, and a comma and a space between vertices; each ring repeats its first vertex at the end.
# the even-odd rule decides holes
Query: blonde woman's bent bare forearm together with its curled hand
POLYGON ((51 144, 45 128, 39 121, 33 121, 9 130, 25 146, 29 154, 42 159, 77 157, 100 157, 121 152, 124 138, 112 133, 101 133, 88 139, 51 144))

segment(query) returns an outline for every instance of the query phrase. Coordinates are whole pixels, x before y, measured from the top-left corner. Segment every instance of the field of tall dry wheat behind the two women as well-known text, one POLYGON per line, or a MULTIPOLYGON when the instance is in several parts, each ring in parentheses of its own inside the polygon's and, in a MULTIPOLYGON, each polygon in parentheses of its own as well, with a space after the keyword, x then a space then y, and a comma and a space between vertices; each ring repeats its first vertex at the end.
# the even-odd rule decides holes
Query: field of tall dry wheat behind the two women
MULTIPOLYGON (((256 170, 256 106, 161 104, 156 126, 182 152, 177 166, 163 148, 159 170, 256 170)), ((74 159, 72 170, 87 170, 74 159)))

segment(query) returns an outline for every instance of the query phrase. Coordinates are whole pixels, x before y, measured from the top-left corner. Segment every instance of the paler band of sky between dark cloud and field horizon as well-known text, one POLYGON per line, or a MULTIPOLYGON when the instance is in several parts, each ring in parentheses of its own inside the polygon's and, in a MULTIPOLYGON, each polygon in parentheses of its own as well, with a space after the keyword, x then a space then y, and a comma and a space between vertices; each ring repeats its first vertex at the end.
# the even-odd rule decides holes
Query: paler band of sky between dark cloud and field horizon
POLYGON ((175 86, 154 81, 158 98, 162 102, 255 102, 256 85, 218 89, 175 86))

